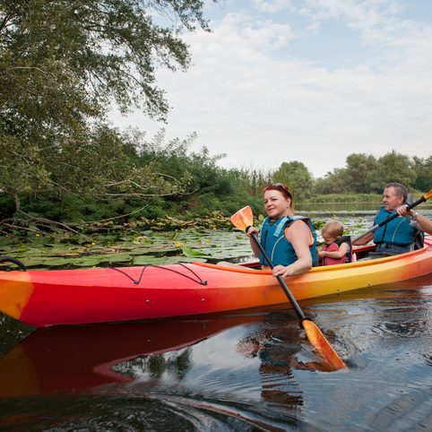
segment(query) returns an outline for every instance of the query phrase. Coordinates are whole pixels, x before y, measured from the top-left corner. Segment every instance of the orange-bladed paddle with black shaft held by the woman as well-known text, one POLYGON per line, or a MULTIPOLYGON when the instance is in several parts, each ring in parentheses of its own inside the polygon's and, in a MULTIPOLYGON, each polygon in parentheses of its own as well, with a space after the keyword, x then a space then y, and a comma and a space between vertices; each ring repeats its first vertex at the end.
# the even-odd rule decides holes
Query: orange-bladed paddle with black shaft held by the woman
MULTIPOLYGON (((239 210, 237 213, 233 214, 230 218, 231 223, 238 229, 247 232, 247 229, 252 227, 254 216, 252 214, 252 209, 247 205, 243 209, 239 210)), ((258 238, 252 235, 251 238, 255 242, 255 245, 259 247, 260 251, 264 255, 265 261, 273 268, 272 260, 269 255, 266 254, 264 247, 261 245, 258 238)), ((338 356, 335 350, 333 350, 330 343, 325 339, 324 334, 321 333, 320 329, 315 325, 315 323, 307 318, 303 311, 298 306, 296 298, 291 294, 287 284, 281 276, 276 276, 276 279, 280 283, 282 289, 284 290, 286 296, 289 299, 289 303, 294 308, 294 311, 298 315, 300 320, 300 325, 307 333, 307 338, 309 339, 312 346, 324 359, 324 362, 331 367, 333 370, 346 369, 347 366, 343 360, 338 356)))

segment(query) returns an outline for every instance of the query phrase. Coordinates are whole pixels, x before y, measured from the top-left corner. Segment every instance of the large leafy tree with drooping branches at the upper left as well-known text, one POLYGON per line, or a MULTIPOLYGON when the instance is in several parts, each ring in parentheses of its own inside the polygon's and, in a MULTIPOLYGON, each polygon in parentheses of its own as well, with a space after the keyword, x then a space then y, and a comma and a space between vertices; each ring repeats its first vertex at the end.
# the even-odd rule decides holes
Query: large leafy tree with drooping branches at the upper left
POLYGON ((149 169, 118 168, 127 149, 104 118, 116 102, 164 119, 155 70, 186 70, 179 34, 195 25, 209 30, 200 0, 0 0, 1 192, 18 208, 40 190, 166 192, 149 169))

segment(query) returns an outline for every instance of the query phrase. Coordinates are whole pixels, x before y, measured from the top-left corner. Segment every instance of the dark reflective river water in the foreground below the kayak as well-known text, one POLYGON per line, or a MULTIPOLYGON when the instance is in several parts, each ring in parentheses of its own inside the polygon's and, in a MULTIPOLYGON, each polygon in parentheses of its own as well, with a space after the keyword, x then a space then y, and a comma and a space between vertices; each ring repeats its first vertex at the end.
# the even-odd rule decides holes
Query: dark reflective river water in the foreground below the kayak
POLYGON ((431 275, 301 307, 348 372, 316 364, 289 307, 39 330, 3 316, 18 343, 0 430, 432 430, 431 275))

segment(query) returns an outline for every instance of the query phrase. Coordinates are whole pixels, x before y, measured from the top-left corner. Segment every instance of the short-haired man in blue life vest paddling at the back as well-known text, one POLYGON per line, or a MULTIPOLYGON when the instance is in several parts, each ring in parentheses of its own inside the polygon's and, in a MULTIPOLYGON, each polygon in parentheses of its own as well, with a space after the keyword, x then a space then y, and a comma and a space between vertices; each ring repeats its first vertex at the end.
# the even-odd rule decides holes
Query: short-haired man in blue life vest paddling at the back
POLYGON ((383 206, 376 213, 374 226, 387 219, 394 212, 400 217, 391 220, 353 242, 354 245, 366 245, 372 239, 376 251, 371 252, 366 259, 381 258, 409 252, 414 248, 416 238, 423 232, 432 234, 432 222, 412 210, 407 211, 407 188, 400 183, 389 183, 384 188, 383 206))

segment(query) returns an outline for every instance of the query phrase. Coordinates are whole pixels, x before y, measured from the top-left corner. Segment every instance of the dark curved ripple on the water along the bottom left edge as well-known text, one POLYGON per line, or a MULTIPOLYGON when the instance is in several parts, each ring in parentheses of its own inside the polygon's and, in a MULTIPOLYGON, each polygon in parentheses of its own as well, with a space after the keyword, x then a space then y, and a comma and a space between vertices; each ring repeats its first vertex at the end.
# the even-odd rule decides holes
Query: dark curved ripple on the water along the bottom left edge
MULTIPOLYGON (((194 393, 68 394, 2 402, 2 431, 280 431, 304 423, 296 412, 194 393), (73 397, 71 397, 73 396, 73 397)), ((313 427, 307 430, 315 431, 313 427)))

